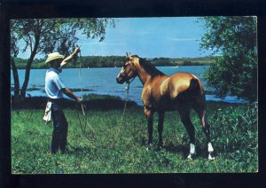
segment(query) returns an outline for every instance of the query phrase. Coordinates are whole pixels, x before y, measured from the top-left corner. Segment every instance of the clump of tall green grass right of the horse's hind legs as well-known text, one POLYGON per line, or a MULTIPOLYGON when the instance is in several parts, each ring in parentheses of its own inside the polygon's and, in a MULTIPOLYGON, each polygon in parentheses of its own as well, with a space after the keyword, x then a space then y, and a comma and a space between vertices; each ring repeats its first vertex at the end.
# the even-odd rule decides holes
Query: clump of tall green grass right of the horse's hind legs
POLYGON ((210 117, 212 140, 217 155, 232 159, 247 171, 250 163, 258 168, 258 105, 229 106, 210 117))

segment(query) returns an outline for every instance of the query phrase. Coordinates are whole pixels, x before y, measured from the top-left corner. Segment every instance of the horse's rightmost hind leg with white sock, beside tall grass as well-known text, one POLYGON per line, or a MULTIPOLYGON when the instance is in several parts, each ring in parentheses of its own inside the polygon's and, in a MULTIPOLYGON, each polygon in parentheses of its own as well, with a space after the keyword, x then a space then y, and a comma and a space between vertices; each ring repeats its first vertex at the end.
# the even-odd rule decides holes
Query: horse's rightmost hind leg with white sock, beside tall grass
POLYGON ((208 152, 208 159, 209 160, 215 160, 215 157, 213 155, 214 153, 214 148, 211 144, 211 138, 210 138, 210 125, 207 122, 207 113, 205 110, 205 107, 202 106, 196 106, 195 110, 197 112, 197 114, 199 115, 200 121, 201 121, 201 125, 202 125, 202 129, 204 134, 207 137, 207 152, 208 152))

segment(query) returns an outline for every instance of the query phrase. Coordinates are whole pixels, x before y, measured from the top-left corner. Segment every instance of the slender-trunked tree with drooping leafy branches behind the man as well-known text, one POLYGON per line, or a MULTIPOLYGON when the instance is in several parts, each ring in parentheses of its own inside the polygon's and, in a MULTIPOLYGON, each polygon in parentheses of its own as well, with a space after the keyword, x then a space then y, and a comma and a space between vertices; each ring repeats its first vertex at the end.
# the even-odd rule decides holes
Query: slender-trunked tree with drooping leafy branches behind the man
POLYGON ((112 19, 31 19, 11 21, 11 66, 14 78, 15 101, 23 100, 26 96, 30 69, 36 54, 48 54, 59 51, 65 56, 73 51, 78 38, 75 34, 81 31, 88 38, 98 38, 103 41, 106 35, 106 27, 114 27, 112 19), (20 49, 18 43, 25 43, 20 49), (25 79, 20 89, 18 71, 14 59, 19 51, 30 51, 25 79))

